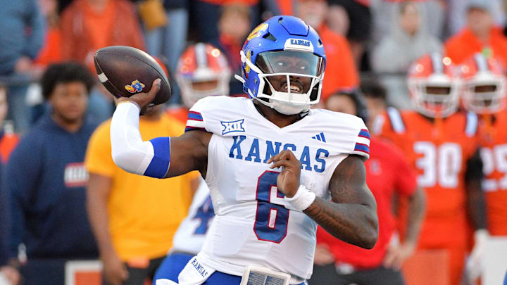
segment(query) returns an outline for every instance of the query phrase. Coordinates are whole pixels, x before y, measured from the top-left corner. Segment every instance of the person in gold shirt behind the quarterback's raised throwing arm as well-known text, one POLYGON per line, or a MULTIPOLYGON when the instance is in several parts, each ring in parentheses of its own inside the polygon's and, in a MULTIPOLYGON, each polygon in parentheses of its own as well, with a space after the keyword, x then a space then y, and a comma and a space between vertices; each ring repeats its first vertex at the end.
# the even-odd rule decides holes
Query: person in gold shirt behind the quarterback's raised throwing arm
MULTIPOLYGON (((89 140, 87 210, 104 264, 103 284, 141 285, 153 277, 187 215, 198 173, 170 179, 133 175, 111 158, 111 120, 89 140)), ((180 136, 184 125, 161 106, 139 120, 143 139, 180 136)))

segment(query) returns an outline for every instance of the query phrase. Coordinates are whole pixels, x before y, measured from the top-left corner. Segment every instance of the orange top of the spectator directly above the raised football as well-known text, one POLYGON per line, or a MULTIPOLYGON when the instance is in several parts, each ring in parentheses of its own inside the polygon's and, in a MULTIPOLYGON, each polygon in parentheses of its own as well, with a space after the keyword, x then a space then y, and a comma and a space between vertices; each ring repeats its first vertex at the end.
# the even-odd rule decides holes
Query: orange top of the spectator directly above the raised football
POLYGON ((93 54, 104 46, 145 50, 134 6, 126 0, 75 0, 62 12, 63 60, 84 63, 94 71, 93 54))

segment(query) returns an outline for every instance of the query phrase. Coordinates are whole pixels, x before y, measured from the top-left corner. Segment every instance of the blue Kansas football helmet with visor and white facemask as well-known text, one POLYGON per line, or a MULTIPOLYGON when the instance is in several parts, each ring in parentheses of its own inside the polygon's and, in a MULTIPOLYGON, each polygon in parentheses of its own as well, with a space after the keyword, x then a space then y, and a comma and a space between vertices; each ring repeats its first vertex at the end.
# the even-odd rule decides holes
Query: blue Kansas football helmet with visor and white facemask
POLYGON ((320 100, 325 70, 322 40, 303 20, 280 15, 258 25, 241 51, 246 94, 285 115, 320 100))

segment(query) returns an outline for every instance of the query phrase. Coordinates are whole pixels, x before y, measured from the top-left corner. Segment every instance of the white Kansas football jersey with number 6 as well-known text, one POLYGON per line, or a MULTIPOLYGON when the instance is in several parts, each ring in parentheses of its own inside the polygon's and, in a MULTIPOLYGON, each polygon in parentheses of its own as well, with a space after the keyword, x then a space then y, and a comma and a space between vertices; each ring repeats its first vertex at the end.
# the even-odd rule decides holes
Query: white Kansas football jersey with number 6
POLYGON ((280 169, 267 161, 291 150, 301 161, 301 184, 329 199, 334 169, 349 154, 368 158, 363 120, 327 110, 310 110, 287 127, 258 112, 252 99, 213 96, 189 112, 186 131, 213 136, 208 146, 208 185, 215 219, 201 261, 219 272, 242 275, 260 265, 292 275, 292 284, 311 277, 316 224, 291 208, 277 189, 280 169))

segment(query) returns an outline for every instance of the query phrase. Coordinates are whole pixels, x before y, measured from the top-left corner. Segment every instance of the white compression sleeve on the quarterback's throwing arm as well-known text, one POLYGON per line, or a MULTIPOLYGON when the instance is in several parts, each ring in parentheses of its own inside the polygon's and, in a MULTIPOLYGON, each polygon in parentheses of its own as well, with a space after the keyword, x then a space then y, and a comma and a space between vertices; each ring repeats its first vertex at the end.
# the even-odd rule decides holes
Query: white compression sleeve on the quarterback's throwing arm
POLYGON ((139 107, 132 102, 118 104, 111 120, 111 155, 118 167, 144 175, 154 158, 151 141, 139 133, 139 107))

